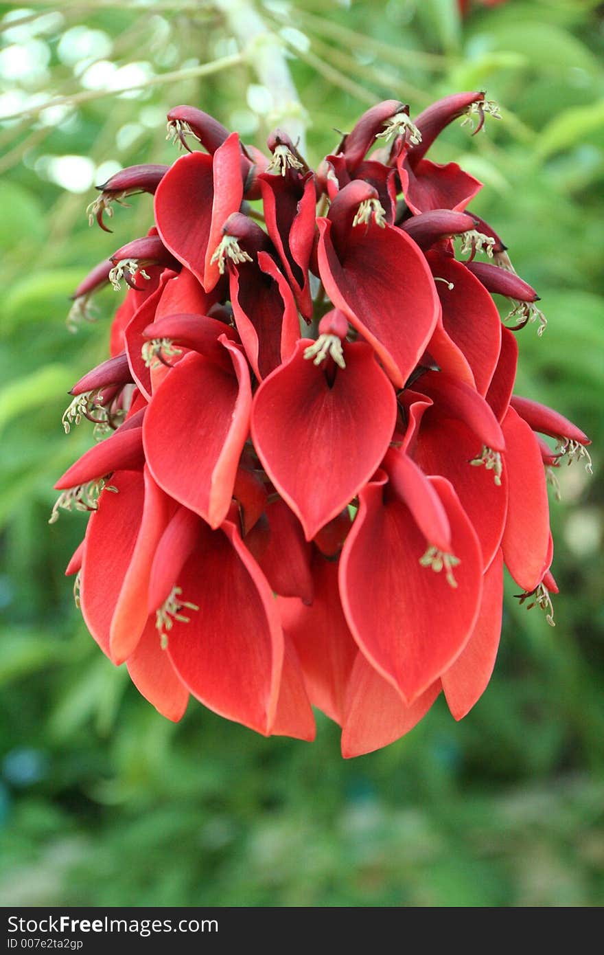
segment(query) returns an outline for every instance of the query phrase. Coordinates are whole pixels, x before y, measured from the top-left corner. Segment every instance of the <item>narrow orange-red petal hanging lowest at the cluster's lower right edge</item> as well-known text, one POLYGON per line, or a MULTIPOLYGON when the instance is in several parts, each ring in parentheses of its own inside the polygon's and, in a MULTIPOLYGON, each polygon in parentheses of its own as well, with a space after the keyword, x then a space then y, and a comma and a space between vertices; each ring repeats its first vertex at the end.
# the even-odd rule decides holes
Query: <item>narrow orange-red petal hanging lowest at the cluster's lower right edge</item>
POLYGON ((478 619, 466 647, 441 680, 448 709, 462 719, 480 699, 495 666, 503 600, 503 555, 501 550, 485 571, 478 619))

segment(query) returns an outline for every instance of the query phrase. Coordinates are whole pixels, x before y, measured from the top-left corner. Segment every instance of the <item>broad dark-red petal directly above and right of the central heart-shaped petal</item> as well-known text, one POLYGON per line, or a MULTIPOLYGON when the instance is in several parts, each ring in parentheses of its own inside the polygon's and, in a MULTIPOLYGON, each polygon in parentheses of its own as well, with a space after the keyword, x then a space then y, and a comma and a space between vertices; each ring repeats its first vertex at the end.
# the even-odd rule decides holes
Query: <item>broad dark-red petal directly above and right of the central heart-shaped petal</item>
POLYGON ((317 223, 319 268, 329 298, 377 351, 393 384, 402 388, 426 349, 440 312, 424 256, 405 232, 392 225, 357 225, 336 250, 330 237, 332 223, 326 219, 317 223))

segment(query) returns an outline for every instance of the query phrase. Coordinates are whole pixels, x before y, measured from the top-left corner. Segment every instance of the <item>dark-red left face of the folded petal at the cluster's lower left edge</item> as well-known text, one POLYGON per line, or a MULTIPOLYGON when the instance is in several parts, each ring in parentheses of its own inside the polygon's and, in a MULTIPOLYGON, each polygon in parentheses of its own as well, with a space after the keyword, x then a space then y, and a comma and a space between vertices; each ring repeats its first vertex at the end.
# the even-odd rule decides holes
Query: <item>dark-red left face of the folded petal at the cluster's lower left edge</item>
POLYGON ((107 656, 115 605, 132 561, 143 513, 142 472, 118 471, 117 494, 105 490, 86 530, 80 604, 94 640, 107 656))

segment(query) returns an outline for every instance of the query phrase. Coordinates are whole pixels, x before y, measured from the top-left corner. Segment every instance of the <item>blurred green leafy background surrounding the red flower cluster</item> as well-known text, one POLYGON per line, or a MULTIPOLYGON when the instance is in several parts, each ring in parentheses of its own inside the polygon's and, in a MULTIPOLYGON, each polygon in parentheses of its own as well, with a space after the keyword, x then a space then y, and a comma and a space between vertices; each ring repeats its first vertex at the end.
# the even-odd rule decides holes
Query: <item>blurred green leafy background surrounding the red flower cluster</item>
POLYGON ((88 229, 94 193, 78 183, 107 160, 171 161, 162 117, 180 102, 261 145, 266 91, 245 66, 120 96, 99 90, 235 52, 209 3, 0 4, 0 114, 103 93, 77 109, 0 117, 0 898, 601 904, 601 7, 476 3, 463 21, 453 0, 259 10, 291 50, 313 163, 336 144, 334 128, 349 129, 380 98, 400 96, 417 112, 438 96, 486 88, 502 105, 486 135, 451 127, 433 159, 458 159, 486 182, 472 207, 542 295, 549 326, 542 339, 534 326, 519 333, 517 391, 594 438, 595 477, 565 468, 563 503, 552 498, 557 626, 520 608, 511 586, 497 667, 474 711, 455 724, 439 700, 405 739, 350 762, 323 718, 311 745, 265 740, 195 704, 173 726, 102 657, 63 577, 83 518, 47 520, 54 479, 92 440, 84 426, 66 437, 60 417, 73 381, 105 357, 114 293, 98 296, 98 321, 78 334, 65 316, 87 270, 144 233, 150 201, 118 207, 107 236, 88 229), (79 166, 57 165, 64 157, 79 166), (82 167, 81 158, 92 161, 82 167))

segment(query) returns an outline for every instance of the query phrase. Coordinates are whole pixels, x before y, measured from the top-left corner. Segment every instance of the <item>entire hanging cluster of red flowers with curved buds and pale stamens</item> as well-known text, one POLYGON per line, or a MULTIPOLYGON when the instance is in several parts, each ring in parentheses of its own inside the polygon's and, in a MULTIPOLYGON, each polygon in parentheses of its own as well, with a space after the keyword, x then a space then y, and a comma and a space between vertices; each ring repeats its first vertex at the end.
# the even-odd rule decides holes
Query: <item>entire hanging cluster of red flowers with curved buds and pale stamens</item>
POLYGON ((192 693, 312 739, 312 704, 366 753, 441 690, 456 719, 485 690, 504 562, 551 613, 546 472, 589 441, 512 396, 537 295, 467 210, 481 183, 426 158, 487 113, 482 93, 413 122, 387 100, 313 172, 281 130, 264 156, 180 106, 170 130, 205 151, 99 187, 103 228, 135 192, 155 225, 76 292, 75 311, 130 286, 113 357, 64 416, 104 439, 57 481, 52 520, 92 512, 67 571, 84 620, 170 719, 192 693))

